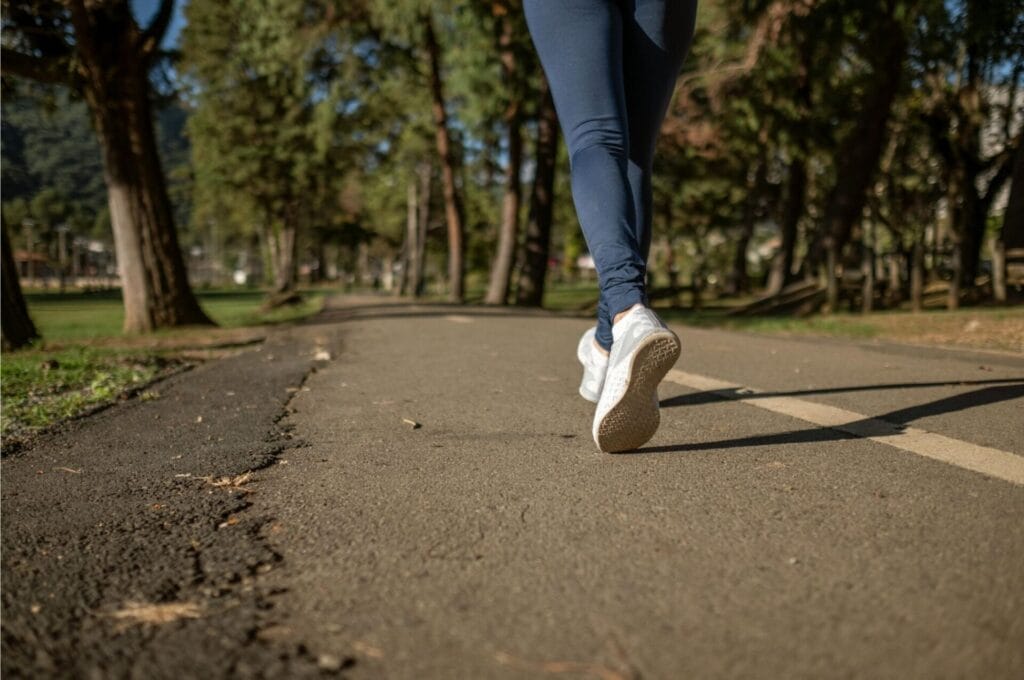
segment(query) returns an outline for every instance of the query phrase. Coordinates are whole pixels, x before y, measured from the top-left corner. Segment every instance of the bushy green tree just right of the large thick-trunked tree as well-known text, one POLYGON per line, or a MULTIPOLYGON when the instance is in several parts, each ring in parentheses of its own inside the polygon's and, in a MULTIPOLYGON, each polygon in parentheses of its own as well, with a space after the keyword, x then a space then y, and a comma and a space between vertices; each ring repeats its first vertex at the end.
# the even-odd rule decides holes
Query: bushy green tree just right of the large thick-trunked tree
POLYGON ((300 241, 318 252, 312 242, 351 218, 342 184, 357 115, 346 114, 355 98, 338 71, 358 34, 335 31, 341 18, 331 7, 290 0, 194 0, 187 16, 194 219, 254 223, 272 272, 267 304, 288 301, 300 241))

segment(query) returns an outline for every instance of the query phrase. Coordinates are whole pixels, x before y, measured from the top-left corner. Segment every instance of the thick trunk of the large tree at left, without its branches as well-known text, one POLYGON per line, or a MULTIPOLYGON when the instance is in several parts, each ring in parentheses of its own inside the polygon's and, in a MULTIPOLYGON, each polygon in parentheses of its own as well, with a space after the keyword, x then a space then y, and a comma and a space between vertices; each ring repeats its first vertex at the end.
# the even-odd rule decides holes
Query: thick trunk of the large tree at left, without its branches
POLYGON ((160 165, 146 59, 127 3, 73 3, 83 94, 103 153, 125 305, 124 330, 212 324, 188 286, 160 165))

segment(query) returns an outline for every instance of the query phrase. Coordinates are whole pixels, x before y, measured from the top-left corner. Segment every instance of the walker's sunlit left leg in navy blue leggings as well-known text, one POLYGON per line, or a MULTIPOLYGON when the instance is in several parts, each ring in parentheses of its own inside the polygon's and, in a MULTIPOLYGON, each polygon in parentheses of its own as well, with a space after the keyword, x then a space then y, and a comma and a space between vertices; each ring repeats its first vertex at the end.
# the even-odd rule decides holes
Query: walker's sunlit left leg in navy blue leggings
POLYGON ((646 302, 644 258, 628 177, 623 13, 616 0, 524 0, 569 152, 572 200, 601 287, 596 339, 614 314, 646 302))

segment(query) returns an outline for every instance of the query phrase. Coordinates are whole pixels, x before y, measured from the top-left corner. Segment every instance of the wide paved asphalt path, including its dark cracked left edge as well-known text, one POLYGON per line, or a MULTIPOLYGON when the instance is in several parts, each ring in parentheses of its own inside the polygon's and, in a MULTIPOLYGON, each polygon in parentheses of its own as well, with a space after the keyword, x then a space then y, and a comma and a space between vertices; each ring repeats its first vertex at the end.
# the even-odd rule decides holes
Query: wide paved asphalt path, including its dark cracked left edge
POLYGON ((337 298, 4 461, 5 674, 1024 674, 1024 358, 678 328, 609 456, 587 326, 337 298))

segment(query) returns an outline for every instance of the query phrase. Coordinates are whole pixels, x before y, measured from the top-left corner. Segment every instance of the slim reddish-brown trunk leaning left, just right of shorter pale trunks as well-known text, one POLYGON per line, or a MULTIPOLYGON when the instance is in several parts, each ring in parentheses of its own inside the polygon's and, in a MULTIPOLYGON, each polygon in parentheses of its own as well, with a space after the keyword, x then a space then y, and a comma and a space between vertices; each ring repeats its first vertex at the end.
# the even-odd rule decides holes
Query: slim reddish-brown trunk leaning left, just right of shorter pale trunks
POLYGON ((430 94, 433 99, 431 110, 437 156, 441 161, 441 185, 444 192, 444 218, 449 230, 449 299, 463 302, 465 293, 465 227, 462 216, 462 198, 456 185, 456 161, 452 151, 447 114, 444 111, 444 88, 441 80, 440 47, 434 35, 433 15, 428 11, 421 16, 424 42, 430 59, 430 94))

